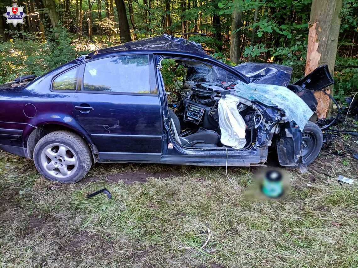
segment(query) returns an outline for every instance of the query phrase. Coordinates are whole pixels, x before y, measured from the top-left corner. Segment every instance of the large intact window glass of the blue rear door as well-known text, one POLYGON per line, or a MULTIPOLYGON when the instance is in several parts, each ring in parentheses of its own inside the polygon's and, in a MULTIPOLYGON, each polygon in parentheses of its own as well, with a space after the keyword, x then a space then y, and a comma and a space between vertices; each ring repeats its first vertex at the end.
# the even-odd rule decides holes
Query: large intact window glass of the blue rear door
POLYGON ((83 90, 150 93, 148 55, 125 55, 86 64, 83 90))

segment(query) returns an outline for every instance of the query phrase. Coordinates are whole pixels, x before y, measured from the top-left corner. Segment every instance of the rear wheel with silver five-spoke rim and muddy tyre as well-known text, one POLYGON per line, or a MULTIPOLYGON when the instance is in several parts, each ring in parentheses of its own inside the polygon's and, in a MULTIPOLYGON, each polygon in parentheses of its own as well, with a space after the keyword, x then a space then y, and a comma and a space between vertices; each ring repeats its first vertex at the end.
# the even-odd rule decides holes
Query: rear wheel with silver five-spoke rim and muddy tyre
POLYGON ((69 131, 55 131, 36 144, 34 162, 37 170, 49 180, 75 183, 91 168, 91 151, 86 142, 69 131))

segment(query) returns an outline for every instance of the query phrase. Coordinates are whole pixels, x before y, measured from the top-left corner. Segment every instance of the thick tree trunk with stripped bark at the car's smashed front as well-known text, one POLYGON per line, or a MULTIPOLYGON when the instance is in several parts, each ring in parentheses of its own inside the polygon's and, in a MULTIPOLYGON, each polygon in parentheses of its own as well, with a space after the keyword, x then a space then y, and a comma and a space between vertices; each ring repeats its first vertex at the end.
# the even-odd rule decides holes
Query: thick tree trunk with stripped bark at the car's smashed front
MULTIPOLYGON (((320 65, 327 64, 333 76, 337 54, 342 0, 313 0, 308 33, 307 60, 305 74, 311 73, 320 65)), ((333 95, 333 86, 327 93, 333 95)), ((326 118, 332 109, 332 101, 323 92, 315 92, 318 101, 317 116, 326 118)))

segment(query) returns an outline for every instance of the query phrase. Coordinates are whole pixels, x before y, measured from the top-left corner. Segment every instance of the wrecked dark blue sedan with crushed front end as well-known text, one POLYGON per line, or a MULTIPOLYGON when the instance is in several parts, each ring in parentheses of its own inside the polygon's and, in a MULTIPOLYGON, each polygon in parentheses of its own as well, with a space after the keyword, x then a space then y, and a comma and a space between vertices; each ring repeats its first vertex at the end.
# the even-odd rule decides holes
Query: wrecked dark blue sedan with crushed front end
POLYGON ((289 85, 291 71, 233 68, 170 35, 99 49, 0 85, 0 149, 64 183, 96 162, 248 167, 265 163, 269 148, 281 165, 304 170, 323 142, 312 90, 333 80, 323 66, 289 85), (163 76, 168 61, 183 74, 176 99, 163 76))

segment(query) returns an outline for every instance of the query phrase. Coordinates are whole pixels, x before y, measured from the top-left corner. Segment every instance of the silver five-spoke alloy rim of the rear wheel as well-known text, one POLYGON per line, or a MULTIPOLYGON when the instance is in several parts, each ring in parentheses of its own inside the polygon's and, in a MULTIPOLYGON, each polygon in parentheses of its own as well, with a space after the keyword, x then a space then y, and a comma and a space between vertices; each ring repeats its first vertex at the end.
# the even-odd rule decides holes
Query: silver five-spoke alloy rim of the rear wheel
POLYGON ((43 169, 55 178, 64 179, 76 172, 77 155, 71 148, 61 143, 47 145, 41 153, 43 169))

